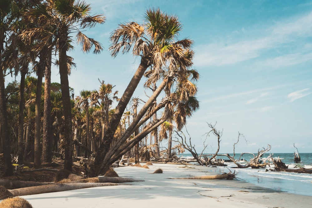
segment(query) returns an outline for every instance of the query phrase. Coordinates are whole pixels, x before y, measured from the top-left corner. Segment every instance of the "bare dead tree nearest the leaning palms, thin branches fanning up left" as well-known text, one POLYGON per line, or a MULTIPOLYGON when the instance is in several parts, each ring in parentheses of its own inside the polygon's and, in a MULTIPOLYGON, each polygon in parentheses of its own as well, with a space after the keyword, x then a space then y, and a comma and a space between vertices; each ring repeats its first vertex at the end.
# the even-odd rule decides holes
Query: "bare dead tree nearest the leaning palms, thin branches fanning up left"
POLYGON ((205 145, 205 142, 204 142, 204 148, 203 148, 202 152, 200 153, 200 155, 198 156, 198 153, 196 152, 196 149, 195 149, 195 145, 192 145, 191 136, 188 133, 188 130, 186 130, 186 132, 188 133, 188 136, 189 136, 189 142, 186 141, 186 136, 182 131, 181 131, 181 134, 178 133, 177 131, 174 131, 174 132, 176 133, 176 136, 178 136, 178 137, 175 137, 177 140, 174 142, 178 142, 179 144, 181 144, 184 149, 191 152, 191 154, 193 155, 196 162, 198 162, 198 164, 203 165, 203 160, 201 159, 201 157, 202 157, 202 153, 207 148, 207 145, 205 145))

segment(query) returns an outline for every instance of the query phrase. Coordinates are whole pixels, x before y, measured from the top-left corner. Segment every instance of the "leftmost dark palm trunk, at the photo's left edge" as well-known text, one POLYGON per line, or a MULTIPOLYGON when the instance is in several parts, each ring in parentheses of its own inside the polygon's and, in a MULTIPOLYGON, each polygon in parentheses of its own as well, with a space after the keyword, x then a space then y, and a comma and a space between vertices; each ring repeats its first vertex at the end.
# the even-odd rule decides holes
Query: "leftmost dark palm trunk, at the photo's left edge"
MULTIPOLYGON (((2 68, 2 64, 0 64, 0 67, 2 68)), ((0 73, 0 123, 3 148, 3 175, 12 176, 13 169, 11 164, 11 141, 9 137, 9 128, 7 123, 7 104, 5 98, 4 76, 2 70, 0 73)))

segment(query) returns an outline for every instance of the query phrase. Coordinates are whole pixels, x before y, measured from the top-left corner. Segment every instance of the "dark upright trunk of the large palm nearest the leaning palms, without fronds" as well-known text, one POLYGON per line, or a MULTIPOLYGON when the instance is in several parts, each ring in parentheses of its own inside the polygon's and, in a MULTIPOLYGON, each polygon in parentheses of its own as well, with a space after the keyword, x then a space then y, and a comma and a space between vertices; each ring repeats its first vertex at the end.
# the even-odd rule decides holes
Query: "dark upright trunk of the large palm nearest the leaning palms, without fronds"
POLYGON ((63 115, 64 115, 64 136, 65 136, 65 158, 64 169, 72 171, 72 121, 71 121, 71 97, 69 94, 68 83, 68 68, 67 68, 67 47, 66 38, 59 40, 59 67, 61 77, 61 92, 63 102, 63 115))

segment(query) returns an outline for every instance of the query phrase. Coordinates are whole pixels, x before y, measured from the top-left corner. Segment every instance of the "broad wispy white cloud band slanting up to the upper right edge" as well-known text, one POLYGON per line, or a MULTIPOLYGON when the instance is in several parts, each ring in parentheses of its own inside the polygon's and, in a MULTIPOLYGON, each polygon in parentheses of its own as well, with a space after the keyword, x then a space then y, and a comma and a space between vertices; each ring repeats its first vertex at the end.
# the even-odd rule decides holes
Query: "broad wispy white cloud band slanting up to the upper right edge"
MULTIPOLYGON (((249 32, 252 33, 253 31, 249 32)), ((310 37, 312 36, 312 12, 301 17, 289 18, 284 22, 277 22, 274 27, 262 28, 260 34, 262 36, 255 36, 255 38, 248 40, 241 39, 233 43, 225 44, 220 41, 197 46, 195 47, 194 63, 197 66, 235 64, 257 58, 271 49, 283 48, 285 45, 296 41, 298 37, 310 37)), ((280 56, 269 59, 266 64, 276 64, 275 61, 277 61, 276 65, 293 65, 307 60, 312 60, 311 54, 302 54, 300 50, 300 53, 295 54, 295 57, 293 54, 280 56)))

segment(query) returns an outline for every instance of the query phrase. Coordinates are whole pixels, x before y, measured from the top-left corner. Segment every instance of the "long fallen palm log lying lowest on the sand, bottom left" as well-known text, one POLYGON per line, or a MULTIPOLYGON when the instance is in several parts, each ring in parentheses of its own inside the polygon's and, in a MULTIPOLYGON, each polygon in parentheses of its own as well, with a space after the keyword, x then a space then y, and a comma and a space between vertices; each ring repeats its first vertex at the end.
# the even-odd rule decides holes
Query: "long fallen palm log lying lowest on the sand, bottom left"
POLYGON ((52 193, 59 191, 70 191, 76 189, 83 188, 93 188, 100 186, 117 186, 116 183, 73 183, 73 184, 64 184, 64 183, 56 183, 50 185, 43 186, 32 186, 26 188, 18 188, 8 190, 12 193, 12 196, 26 196, 26 195, 34 195, 34 194, 43 194, 43 193, 52 193))

